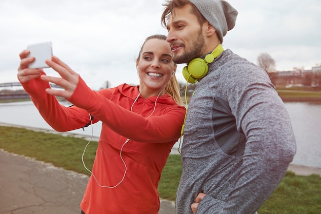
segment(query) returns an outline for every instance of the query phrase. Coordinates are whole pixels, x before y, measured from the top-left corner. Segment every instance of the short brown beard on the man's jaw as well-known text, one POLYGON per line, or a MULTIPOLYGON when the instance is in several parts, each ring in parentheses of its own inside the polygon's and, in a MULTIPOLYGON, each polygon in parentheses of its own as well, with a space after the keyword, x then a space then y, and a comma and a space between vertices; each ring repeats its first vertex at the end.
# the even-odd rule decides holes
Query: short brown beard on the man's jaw
MULTIPOLYGON (((200 54, 202 53, 203 47, 205 44, 205 40, 204 37, 202 35, 202 29, 200 30, 200 32, 198 33, 198 37, 195 38, 192 42, 191 42, 191 46, 190 46, 190 50, 187 51, 186 49, 184 50, 185 52, 183 52, 180 55, 173 55, 173 61, 174 63, 177 64, 182 64, 182 63, 189 63, 191 62, 193 59, 197 58, 200 56, 200 54)), ((186 46, 184 46, 186 47, 186 46)))

